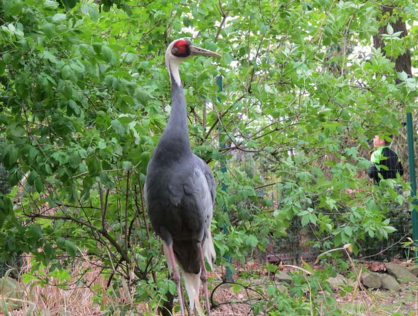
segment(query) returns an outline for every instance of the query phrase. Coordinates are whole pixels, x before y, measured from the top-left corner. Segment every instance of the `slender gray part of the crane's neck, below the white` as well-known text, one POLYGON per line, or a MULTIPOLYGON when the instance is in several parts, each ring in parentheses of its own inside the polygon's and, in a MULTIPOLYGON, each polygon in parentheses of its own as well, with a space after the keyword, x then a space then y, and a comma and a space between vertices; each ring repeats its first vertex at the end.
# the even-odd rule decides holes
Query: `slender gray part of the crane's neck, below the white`
POLYGON ((163 149, 164 161, 177 161, 192 154, 187 126, 187 107, 184 92, 171 76, 171 112, 168 124, 160 138, 158 147, 163 149))

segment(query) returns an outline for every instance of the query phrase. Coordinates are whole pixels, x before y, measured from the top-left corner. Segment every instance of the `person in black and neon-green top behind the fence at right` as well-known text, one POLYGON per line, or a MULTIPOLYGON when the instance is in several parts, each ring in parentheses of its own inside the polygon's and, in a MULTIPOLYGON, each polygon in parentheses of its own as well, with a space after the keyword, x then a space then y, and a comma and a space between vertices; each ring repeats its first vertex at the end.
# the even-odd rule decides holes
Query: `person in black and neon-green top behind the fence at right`
POLYGON ((373 165, 369 168, 369 178, 375 183, 380 182, 379 174, 383 179, 394 179, 397 174, 403 175, 403 167, 398 155, 389 148, 389 143, 379 135, 374 136, 373 146, 376 148, 371 154, 370 161, 373 165))

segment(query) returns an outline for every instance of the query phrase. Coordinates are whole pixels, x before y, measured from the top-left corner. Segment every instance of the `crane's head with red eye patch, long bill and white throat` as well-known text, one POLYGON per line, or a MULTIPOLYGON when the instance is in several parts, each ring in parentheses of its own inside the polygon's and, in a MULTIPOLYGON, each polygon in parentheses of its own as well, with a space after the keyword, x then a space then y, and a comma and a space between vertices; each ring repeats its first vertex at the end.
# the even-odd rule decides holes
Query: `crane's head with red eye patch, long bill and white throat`
MULTIPOLYGON (((213 56, 222 57, 221 55, 205 50, 200 47, 193 46, 187 39, 176 39, 168 45, 165 51, 165 64, 169 73, 175 78, 176 82, 181 85, 179 74, 179 64, 191 56, 213 56)), ((171 76, 170 76, 171 80, 171 76)))

